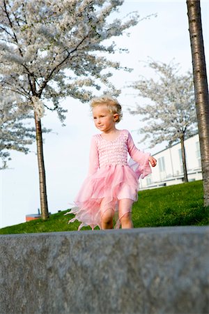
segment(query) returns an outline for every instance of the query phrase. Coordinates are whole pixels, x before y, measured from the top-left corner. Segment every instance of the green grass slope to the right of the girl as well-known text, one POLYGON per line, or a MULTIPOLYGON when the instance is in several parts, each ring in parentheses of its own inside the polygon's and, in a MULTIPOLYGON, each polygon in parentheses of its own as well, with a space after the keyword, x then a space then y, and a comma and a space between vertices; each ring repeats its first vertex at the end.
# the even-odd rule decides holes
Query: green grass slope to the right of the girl
POLYGON ((141 191, 132 213, 134 227, 209 224, 202 181, 141 191))

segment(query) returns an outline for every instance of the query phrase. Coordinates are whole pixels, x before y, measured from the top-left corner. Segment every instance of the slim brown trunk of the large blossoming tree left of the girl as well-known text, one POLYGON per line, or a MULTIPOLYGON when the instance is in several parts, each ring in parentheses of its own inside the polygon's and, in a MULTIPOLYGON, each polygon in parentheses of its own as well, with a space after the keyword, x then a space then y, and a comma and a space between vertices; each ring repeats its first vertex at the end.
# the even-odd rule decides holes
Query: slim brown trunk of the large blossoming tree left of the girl
POLYGON ((49 211, 47 205, 47 187, 45 178, 45 163, 43 158, 42 149, 42 130, 40 119, 38 119, 35 112, 35 122, 36 122, 36 143, 37 143, 37 155, 38 155, 38 172, 39 172, 39 188, 40 188, 40 210, 41 218, 47 220, 49 218, 49 211))

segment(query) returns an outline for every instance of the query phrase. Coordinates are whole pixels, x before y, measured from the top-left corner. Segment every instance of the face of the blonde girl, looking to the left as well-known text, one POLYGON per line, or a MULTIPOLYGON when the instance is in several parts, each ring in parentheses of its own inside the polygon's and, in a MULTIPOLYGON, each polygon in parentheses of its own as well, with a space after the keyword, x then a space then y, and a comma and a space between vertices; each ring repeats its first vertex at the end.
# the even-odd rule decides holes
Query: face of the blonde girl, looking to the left
POLYGON ((115 130, 118 114, 111 114, 106 105, 98 105, 93 108, 93 120, 95 127, 104 133, 115 130))

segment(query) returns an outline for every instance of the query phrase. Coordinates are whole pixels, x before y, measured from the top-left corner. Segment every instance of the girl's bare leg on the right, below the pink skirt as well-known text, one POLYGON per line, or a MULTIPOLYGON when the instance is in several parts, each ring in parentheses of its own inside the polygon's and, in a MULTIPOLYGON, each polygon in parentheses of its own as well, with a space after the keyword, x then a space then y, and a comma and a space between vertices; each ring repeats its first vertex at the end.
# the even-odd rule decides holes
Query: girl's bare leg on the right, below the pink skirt
POLYGON ((131 229, 133 226, 132 223, 132 204, 133 201, 129 198, 123 198, 119 200, 119 219, 121 221, 122 229, 131 229))

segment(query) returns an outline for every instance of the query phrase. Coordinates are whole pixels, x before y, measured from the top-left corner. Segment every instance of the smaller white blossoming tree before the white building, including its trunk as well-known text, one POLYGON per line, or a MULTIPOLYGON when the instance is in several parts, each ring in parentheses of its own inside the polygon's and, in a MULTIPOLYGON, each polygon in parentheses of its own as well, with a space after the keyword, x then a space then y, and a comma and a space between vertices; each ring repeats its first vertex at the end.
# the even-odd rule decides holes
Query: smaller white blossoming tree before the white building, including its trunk
POLYGON ((141 79, 132 84, 139 96, 149 100, 148 105, 137 105, 132 114, 140 114, 148 123, 139 131, 150 139, 150 147, 167 141, 180 141, 183 157, 184 181, 187 182, 187 164, 184 140, 196 133, 196 112, 192 73, 178 74, 178 65, 148 61, 148 66, 159 75, 159 80, 141 79))

